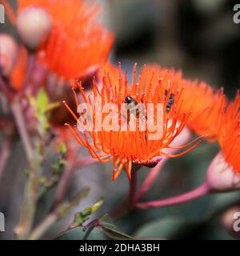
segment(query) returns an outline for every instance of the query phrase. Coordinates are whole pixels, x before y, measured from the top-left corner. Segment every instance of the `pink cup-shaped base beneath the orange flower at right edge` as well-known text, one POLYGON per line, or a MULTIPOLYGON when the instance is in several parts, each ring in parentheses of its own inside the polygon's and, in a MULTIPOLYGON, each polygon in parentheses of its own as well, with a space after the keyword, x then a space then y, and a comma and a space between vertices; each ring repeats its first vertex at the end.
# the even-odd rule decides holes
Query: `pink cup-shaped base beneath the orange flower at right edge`
POLYGON ((222 152, 211 162, 206 173, 206 184, 210 192, 227 192, 240 189, 240 174, 229 166, 222 152))

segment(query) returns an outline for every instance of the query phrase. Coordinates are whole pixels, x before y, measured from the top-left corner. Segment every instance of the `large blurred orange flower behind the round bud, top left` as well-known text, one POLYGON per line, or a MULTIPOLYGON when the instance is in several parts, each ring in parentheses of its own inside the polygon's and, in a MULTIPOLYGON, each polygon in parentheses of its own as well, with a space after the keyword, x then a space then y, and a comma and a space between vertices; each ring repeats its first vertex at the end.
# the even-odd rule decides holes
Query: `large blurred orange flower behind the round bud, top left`
POLYGON ((74 80, 93 66, 102 66, 114 35, 97 21, 99 6, 83 0, 18 0, 18 12, 28 6, 46 10, 52 18, 50 38, 38 60, 58 77, 74 80))

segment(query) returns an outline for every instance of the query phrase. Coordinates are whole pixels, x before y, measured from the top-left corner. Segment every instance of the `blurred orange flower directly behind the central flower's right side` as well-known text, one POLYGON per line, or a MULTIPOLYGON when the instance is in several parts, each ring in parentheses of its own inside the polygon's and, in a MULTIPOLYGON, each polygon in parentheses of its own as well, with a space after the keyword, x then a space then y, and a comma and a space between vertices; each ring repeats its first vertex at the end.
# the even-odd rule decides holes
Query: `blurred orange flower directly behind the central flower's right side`
MULTIPOLYGON (((181 71, 166 70, 158 65, 152 65, 151 70, 156 74, 155 79, 159 77, 174 78, 178 90, 184 90, 180 99, 184 104, 179 105, 181 107, 179 118, 182 119, 185 117, 185 113, 191 112, 187 126, 196 134, 205 136, 208 141, 216 141, 222 113, 227 104, 223 90, 214 89, 205 82, 185 79, 182 77, 181 71)), ((155 84, 156 81, 153 83, 155 84)))

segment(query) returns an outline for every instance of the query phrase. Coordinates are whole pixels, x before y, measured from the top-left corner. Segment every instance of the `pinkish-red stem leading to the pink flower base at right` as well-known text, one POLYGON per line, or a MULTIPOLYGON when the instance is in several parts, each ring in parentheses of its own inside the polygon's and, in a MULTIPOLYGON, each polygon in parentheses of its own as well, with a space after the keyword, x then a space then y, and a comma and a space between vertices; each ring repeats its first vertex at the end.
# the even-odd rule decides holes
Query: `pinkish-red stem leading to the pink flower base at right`
POLYGON ((201 186, 198 186, 195 190, 192 190, 190 192, 187 192, 185 194, 181 194, 178 196, 175 196, 173 198, 166 198, 156 201, 150 201, 150 202, 138 202, 135 206, 139 209, 149 209, 149 208, 160 208, 160 207, 166 207, 166 206, 174 206, 183 202, 189 202, 196 198, 200 198, 206 194, 210 193, 210 188, 207 186, 207 184, 204 182, 201 186))

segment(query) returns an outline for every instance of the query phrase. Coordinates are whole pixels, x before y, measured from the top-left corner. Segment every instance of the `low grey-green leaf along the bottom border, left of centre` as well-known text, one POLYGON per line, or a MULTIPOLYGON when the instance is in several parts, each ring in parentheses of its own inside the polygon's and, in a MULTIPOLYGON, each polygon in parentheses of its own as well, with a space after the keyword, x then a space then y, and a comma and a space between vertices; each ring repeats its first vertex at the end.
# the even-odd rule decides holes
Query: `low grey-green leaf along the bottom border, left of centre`
POLYGON ((98 227, 94 229, 84 229, 78 226, 60 234, 56 240, 106 240, 106 235, 98 227))

